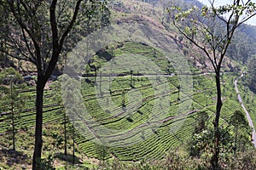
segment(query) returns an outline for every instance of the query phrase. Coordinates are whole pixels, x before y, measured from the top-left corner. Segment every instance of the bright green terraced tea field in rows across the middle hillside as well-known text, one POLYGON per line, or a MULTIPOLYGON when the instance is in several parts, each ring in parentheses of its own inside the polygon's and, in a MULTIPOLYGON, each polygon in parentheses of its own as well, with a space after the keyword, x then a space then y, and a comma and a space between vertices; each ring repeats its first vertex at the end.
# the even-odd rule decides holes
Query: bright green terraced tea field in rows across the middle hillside
MULTIPOLYGON (((84 76, 80 77, 81 105, 84 105, 86 114, 81 111, 76 115, 78 119, 70 121, 79 125, 79 128, 76 126, 75 141, 86 156, 98 158, 95 142, 101 141, 108 148, 106 158, 117 157, 122 161, 159 159, 169 150, 184 150, 195 130, 198 114, 206 112, 206 124, 212 126, 216 102, 213 74, 198 71, 183 74, 175 70, 175 63, 169 62, 154 48, 132 42, 125 42, 119 48, 108 48, 87 68, 90 70, 84 71, 84 76), (119 67, 126 70, 116 67, 119 74, 113 77, 108 72, 111 70, 108 62, 118 62, 114 59, 131 52, 150 59, 160 68, 160 73, 139 70, 143 63, 130 59, 128 61, 134 64, 125 68, 123 63, 119 67), (95 70, 91 66, 94 64, 101 65, 96 69, 97 77, 94 77, 95 70), (188 77, 192 80, 189 84, 180 83, 186 82, 188 77)), ((238 73, 224 73, 222 76, 224 105, 220 124, 223 127, 229 126, 231 114, 241 108, 233 84, 238 76, 238 73)), ((60 88, 45 90, 44 123, 63 123, 63 107, 55 99, 60 93, 60 88)), ((20 96, 25 94, 34 96, 35 88, 20 91, 20 96)), ((248 99, 253 102, 249 107, 251 110, 255 108, 254 98, 252 94, 252 99, 248 99)), ((15 119, 17 130, 35 126, 34 102, 34 98, 26 100, 26 106, 15 119)), ((3 135, 9 130, 10 111, 1 111, 0 122, 3 135)), ((72 127, 70 122, 68 128, 72 127)))

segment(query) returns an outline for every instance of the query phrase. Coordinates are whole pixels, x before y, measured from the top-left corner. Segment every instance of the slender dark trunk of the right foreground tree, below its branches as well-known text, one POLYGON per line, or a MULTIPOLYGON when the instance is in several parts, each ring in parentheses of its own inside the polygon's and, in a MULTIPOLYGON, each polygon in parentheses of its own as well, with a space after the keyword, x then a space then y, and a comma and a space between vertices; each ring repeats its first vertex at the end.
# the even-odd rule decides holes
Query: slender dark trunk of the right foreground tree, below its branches
POLYGON ((220 133, 218 128, 218 122, 220 117, 220 111, 222 107, 222 100, 221 100, 221 84, 220 84, 220 71, 216 71, 215 76, 216 81, 216 88, 217 88, 217 105, 216 105, 216 116, 215 120, 213 122, 214 125, 214 150, 213 150, 213 156, 212 156, 212 168, 214 170, 218 170, 218 156, 219 156, 219 139, 220 139, 220 133))

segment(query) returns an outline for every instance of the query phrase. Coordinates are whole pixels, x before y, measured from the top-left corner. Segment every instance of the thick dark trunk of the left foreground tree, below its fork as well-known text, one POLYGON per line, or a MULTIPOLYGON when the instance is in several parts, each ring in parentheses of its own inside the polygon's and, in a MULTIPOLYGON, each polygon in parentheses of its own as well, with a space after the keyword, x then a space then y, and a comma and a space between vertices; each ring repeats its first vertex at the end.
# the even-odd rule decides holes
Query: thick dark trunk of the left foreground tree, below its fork
POLYGON ((44 96, 44 79, 38 77, 37 83, 37 99, 36 99, 36 128, 35 128, 35 146, 33 153, 32 169, 40 170, 39 161, 41 161, 41 153, 43 146, 42 125, 43 125, 43 96, 44 96))

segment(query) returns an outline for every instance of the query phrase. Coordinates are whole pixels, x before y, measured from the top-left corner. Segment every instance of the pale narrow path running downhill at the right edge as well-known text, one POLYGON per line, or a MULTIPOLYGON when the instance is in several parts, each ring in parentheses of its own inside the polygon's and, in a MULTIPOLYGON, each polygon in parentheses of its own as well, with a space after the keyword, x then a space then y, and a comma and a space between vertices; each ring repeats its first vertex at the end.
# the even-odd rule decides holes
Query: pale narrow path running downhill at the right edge
MULTIPOLYGON (((241 74, 241 77, 243 77, 243 74, 241 74)), ((239 90, 238 90, 238 88, 237 88, 237 82, 238 82, 239 78, 241 78, 241 77, 238 77, 238 78, 236 79, 236 81, 234 82, 235 88, 236 88, 236 94, 237 94, 237 98, 238 98, 238 100, 239 100, 239 102, 240 102, 240 104, 241 104, 241 107, 242 107, 243 111, 246 113, 247 120, 248 120, 248 122, 249 122, 249 126, 252 127, 252 129, 253 129, 252 142, 253 142, 254 147, 256 148, 256 132, 255 132, 255 128, 254 128, 254 126, 253 126, 253 121, 252 121, 252 118, 251 118, 251 116, 249 115, 249 113, 248 113, 246 107, 243 105, 243 102, 242 102, 242 99, 241 99, 241 95, 239 94, 239 90)))

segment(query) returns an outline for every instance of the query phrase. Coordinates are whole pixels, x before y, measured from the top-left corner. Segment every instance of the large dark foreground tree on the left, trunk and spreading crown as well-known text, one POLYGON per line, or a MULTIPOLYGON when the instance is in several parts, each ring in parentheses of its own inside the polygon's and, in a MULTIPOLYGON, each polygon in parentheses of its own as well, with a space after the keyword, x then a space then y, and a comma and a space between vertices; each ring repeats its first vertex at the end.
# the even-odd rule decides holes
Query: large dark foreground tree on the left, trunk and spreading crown
POLYGON ((60 59, 66 39, 71 38, 73 27, 80 21, 78 16, 79 19, 85 18, 83 11, 93 14, 100 3, 105 2, 0 0, 1 14, 9 14, 8 33, 4 34, 5 32, 0 30, 1 44, 5 47, 1 48, 1 51, 15 59, 31 62, 36 66, 38 73, 32 169, 41 169, 38 161, 41 160, 43 145, 44 86, 60 59))

